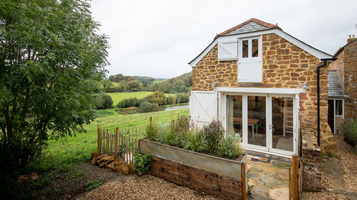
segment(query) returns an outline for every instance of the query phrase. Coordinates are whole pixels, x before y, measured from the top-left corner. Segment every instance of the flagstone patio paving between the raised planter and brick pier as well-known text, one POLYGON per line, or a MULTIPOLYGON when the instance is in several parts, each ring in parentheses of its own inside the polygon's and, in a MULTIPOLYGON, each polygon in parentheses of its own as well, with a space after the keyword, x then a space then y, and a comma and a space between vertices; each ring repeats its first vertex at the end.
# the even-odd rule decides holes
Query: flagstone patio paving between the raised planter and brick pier
POLYGON ((288 199, 290 163, 271 160, 270 163, 253 161, 261 157, 247 155, 248 184, 254 185, 254 199, 288 199))

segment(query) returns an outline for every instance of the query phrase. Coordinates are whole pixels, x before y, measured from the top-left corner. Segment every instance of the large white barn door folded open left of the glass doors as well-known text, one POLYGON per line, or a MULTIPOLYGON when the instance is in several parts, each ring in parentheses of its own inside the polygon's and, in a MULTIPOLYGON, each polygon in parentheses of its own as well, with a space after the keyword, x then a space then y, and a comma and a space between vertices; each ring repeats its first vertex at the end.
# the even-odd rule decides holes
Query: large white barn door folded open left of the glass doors
POLYGON ((211 123, 217 120, 218 96, 215 91, 190 91, 190 119, 196 126, 211 123))

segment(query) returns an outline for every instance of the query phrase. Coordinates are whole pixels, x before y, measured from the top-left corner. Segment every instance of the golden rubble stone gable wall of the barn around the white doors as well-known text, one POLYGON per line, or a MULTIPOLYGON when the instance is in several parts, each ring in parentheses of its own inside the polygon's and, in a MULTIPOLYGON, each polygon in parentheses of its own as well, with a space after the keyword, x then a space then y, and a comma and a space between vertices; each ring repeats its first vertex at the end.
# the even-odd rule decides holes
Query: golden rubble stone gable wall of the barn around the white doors
MULTIPOLYGON (((212 91, 218 87, 302 88, 301 126, 317 130, 316 67, 319 59, 276 34, 262 36, 262 83, 238 83, 237 60, 218 61, 217 45, 192 67, 192 90, 212 91)), ((331 129, 327 124, 328 67, 320 71, 320 143, 323 152, 338 154, 331 129)))

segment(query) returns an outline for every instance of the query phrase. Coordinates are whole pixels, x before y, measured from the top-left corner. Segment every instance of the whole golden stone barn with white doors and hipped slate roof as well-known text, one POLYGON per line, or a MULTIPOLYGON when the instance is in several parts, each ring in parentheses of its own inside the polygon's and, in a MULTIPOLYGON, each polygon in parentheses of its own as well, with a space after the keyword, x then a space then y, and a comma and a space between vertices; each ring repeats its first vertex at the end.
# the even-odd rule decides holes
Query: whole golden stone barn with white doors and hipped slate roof
POLYGON ((190 118, 218 119, 240 133, 245 149, 305 159, 305 190, 321 190, 321 151, 338 154, 328 126, 328 64, 333 56, 258 19, 218 34, 192 67, 190 118), (317 146, 317 72, 320 71, 320 147, 317 146), (301 150, 302 149, 302 150, 301 150))

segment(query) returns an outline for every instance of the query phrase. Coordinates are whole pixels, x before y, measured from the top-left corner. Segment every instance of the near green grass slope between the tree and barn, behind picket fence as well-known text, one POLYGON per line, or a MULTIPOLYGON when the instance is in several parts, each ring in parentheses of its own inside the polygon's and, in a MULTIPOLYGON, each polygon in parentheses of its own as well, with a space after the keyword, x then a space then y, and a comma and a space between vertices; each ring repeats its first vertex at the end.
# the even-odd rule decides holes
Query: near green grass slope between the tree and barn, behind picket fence
POLYGON ((49 140, 49 150, 51 153, 62 153, 67 150, 78 150, 78 149, 94 149, 97 146, 97 127, 102 129, 111 129, 115 127, 129 128, 135 126, 146 126, 149 122, 149 117, 152 116, 153 120, 159 120, 162 122, 169 122, 172 119, 172 115, 177 117, 177 115, 188 115, 188 109, 178 109, 174 111, 160 111, 160 112, 149 112, 142 114, 132 114, 132 115, 121 115, 115 112, 113 109, 108 110, 98 110, 97 119, 90 123, 90 125, 85 125, 86 133, 76 133, 77 137, 67 137, 67 141, 62 144, 62 140, 58 141, 49 140), (66 148, 64 148, 64 146, 66 148))

